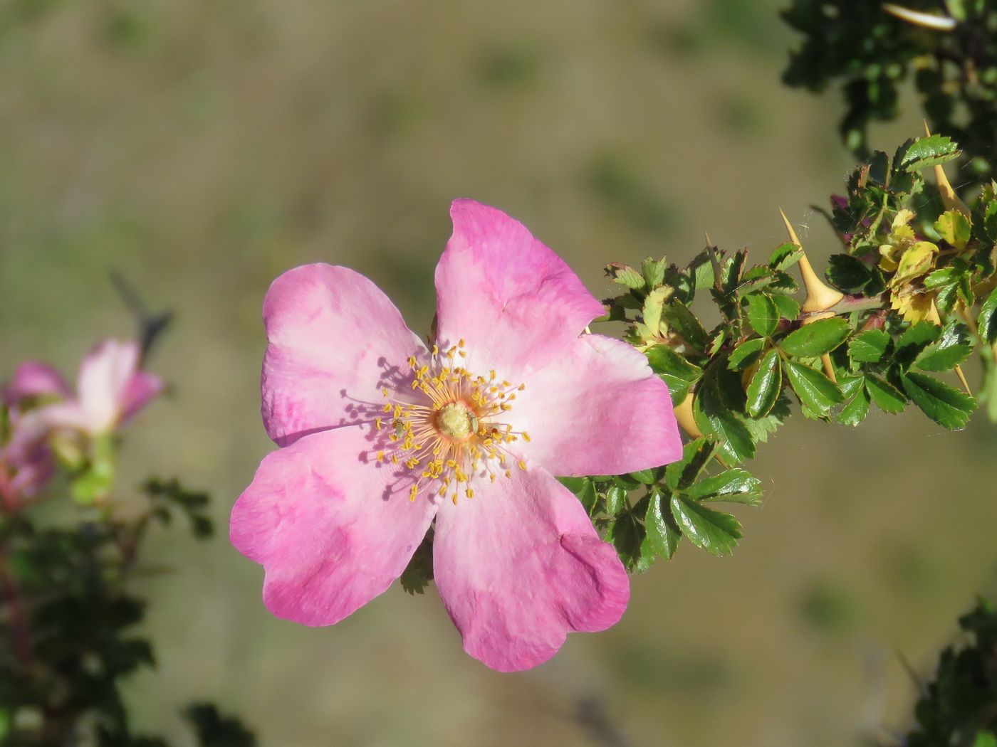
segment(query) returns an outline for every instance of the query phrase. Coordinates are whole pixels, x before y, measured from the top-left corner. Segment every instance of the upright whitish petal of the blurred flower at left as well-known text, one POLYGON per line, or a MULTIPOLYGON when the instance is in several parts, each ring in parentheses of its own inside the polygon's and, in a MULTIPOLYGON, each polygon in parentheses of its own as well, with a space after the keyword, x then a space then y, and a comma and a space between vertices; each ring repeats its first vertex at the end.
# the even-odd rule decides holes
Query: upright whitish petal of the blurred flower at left
POLYGON ((126 389, 139 369, 139 357, 135 341, 105 340, 83 359, 77 397, 85 413, 84 430, 101 433, 118 424, 126 389))

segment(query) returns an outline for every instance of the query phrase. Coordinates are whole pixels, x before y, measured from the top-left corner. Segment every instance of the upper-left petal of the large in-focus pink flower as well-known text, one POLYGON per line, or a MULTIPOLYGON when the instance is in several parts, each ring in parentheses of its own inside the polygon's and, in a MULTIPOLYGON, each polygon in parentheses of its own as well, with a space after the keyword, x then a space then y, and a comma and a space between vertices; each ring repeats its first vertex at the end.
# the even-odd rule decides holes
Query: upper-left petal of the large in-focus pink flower
POLYGON ((282 446, 372 420, 382 387, 396 388, 409 356, 426 350, 388 297, 345 267, 285 272, 266 294, 263 323, 263 423, 282 446))

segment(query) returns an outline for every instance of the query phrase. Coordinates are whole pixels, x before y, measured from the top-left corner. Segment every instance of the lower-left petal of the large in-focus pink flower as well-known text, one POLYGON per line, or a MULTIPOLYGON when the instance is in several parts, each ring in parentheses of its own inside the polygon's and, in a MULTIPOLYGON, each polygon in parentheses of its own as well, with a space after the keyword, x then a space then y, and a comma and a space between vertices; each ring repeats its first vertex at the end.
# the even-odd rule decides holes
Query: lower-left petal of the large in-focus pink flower
POLYGON ((422 542, 436 505, 378 463, 370 431, 302 436, 271 452, 232 508, 236 550, 266 569, 278 618, 330 625, 385 592, 422 542))

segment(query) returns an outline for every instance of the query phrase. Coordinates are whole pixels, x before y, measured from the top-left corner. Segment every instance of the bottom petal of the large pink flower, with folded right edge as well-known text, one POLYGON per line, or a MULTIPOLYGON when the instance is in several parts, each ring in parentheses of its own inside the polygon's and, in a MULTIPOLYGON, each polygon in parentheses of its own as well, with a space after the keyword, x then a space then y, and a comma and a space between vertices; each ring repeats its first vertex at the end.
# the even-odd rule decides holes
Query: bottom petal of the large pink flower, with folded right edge
POLYGON ((500 671, 546 661, 572 630, 609 627, 630 595, 578 499, 532 466, 475 485, 473 499, 441 503, 433 553, 464 649, 500 671))

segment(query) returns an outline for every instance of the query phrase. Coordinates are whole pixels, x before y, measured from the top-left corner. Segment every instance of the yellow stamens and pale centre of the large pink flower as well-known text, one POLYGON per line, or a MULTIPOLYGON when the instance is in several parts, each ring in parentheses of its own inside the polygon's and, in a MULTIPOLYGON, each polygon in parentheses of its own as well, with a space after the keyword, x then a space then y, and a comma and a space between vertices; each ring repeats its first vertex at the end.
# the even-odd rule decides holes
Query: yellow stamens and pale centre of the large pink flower
MULTIPOLYGON (((430 486, 454 503, 462 492, 474 498, 473 479, 494 482, 498 475, 511 477, 507 446, 520 438, 529 440, 524 431, 513 430, 504 420, 525 384, 499 380, 494 371, 488 376, 471 373, 463 365, 466 358, 463 340, 443 354, 433 346, 428 364, 420 366, 415 357, 409 359, 415 401, 410 396, 404 401, 392 399, 391 392, 383 390, 390 400, 384 411, 390 413, 393 432, 388 434, 390 446, 378 451, 377 458, 410 470, 411 500, 430 486)), ((380 430, 383 419, 374 424, 380 430)), ((517 457, 512 461, 526 468, 517 457)))

